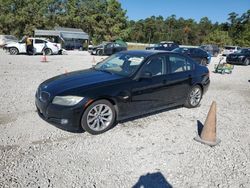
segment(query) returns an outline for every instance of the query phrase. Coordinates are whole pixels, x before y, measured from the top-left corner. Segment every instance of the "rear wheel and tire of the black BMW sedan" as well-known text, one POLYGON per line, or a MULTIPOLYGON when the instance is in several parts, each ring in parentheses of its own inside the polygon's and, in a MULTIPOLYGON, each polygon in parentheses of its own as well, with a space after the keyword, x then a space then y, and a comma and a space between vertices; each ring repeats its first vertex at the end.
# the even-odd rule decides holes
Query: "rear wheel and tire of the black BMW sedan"
POLYGON ((184 106, 187 108, 195 108, 200 104, 201 98, 202 89, 200 86, 195 85, 190 89, 184 106))

